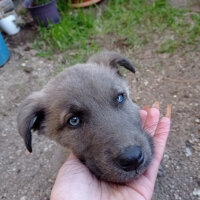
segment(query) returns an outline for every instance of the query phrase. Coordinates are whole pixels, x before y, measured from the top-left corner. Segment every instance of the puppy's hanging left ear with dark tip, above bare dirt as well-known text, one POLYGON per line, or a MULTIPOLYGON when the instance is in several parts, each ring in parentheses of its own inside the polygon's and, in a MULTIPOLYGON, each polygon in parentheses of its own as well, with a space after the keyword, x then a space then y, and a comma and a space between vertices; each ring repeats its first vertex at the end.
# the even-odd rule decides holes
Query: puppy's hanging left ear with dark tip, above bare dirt
POLYGON ((20 105, 17 124, 19 134, 23 137, 26 148, 32 152, 32 130, 41 131, 44 127, 45 108, 42 105, 42 92, 34 92, 20 105))

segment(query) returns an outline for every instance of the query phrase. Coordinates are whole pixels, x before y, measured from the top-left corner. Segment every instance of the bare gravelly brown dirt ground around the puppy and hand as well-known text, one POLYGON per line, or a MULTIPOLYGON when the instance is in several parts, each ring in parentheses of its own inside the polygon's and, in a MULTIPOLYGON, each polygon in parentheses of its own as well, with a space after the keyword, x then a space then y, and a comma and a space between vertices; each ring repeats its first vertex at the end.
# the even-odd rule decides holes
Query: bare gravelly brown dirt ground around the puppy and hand
MULTIPOLYGON (((49 199, 56 173, 67 150, 43 136, 33 135, 33 153, 17 132, 20 102, 55 76, 61 62, 36 57, 28 43, 31 31, 7 37, 11 58, 0 68, 0 199, 49 199), (27 37, 28 36, 28 37, 27 37), (24 39, 25 37, 25 39, 24 39), (23 39, 22 39, 23 38, 23 39)), ((200 199, 200 52, 157 54, 153 44, 134 52, 121 41, 104 48, 120 50, 137 73, 127 73, 132 98, 140 106, 172 104, 172 128, 153 200, 200 199)), ((164 113, 164 112, 163 112, 164 113)))

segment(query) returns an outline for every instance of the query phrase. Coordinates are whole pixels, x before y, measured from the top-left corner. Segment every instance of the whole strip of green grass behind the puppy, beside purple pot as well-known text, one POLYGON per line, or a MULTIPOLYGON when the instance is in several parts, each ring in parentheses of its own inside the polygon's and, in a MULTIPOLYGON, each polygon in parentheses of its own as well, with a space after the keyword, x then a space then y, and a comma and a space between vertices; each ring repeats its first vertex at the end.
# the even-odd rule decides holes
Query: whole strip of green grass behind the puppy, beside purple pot
POLYGON ((119 40, 129 49, 153 43, 158 53, 173 54, 188 46, 199 50, 200 13, 172 8, 165 0, 155 0, 152 4, 146 0, 108 0, 105 7, 89 9, 70 9, 60 0, 58 9, 60 23, 48 29, 39 28, 35 41, 39 56, 70 51, 66 59, 67 64, 72 64, 84 61, 85 56, 103 47, 104 42, 112 46, 119 40))

